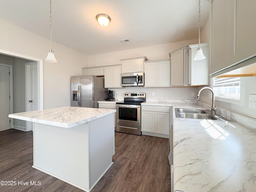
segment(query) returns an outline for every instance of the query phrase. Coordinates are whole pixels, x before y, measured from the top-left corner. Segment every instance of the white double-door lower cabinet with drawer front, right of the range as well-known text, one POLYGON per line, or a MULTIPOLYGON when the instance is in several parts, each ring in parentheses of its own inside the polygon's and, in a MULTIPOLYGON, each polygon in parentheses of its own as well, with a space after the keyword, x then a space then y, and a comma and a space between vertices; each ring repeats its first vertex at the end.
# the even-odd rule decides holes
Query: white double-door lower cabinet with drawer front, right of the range
POLYGON ((142 134, 169 138, 171 115, 171 107, 169 106, 142 105, 142 134))

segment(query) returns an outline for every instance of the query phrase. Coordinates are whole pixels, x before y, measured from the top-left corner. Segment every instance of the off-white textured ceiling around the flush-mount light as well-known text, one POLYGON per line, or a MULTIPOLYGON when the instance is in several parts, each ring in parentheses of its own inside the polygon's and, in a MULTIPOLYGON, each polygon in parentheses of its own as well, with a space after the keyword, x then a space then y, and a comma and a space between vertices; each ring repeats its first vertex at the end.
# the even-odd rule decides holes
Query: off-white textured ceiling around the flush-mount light
MULTIPOLYGON (((50 0, 0 4, 0 19, 50 38, 50 0)), ((201 26, 208 7, 202 0, 201 26)), ((195 38, 198 0, 52 0, 52 40, 88 55, 195 38), (98 13, 110 16, 108 26, 98 24, 98 13), (126 38, 130 41, 119 42, 126 38)))

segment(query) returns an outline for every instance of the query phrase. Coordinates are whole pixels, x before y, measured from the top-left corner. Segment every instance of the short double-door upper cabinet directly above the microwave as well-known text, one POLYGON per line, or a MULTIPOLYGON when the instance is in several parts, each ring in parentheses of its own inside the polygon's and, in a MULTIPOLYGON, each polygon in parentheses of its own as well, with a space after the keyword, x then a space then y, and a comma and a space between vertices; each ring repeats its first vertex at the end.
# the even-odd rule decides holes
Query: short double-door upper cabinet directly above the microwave
POLYGON ((144 72, 144 61, 148 60, 146 57, 121 59, 122 73, 144 72))

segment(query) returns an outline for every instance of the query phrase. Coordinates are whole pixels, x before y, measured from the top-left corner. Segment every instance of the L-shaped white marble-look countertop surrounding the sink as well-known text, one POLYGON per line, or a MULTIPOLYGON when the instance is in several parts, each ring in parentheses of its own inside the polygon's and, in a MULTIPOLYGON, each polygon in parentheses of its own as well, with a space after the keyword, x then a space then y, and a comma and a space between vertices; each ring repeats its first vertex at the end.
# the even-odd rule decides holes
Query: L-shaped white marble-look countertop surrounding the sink
POLYGON ((174 191, 255 191, 255 130, 235 122, 176 118, 174 108, 204 109, 196 103, 145 104, 173 107, 174 191))

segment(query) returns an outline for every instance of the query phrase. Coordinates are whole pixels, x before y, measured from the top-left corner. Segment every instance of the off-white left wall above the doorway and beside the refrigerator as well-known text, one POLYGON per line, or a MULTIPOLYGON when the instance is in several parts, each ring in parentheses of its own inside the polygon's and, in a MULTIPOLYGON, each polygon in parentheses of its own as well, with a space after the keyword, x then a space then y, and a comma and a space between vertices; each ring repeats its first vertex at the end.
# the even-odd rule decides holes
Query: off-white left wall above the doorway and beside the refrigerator
MULTIPOLYGON (((44 60, 50 40, 0 20, 0 50, 44 60)), ((70 106, 70 76, 82 75, 88 57, 52 42, 57 63, 43 61, 44 108, 70 106)))

